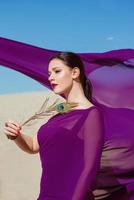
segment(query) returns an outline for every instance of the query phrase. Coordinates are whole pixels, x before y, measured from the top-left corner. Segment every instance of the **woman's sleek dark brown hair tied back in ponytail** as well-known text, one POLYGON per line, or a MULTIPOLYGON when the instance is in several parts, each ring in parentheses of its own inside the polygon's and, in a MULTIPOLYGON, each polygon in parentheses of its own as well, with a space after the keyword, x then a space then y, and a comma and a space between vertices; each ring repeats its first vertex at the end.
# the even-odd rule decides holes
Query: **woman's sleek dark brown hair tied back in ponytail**
POLYGON ((92 98, 92 84, 91 81, 86 77, 85 70, 84 70, 84 64, 81 60, 81 58, 73 52, 60 52, 56 54, 55 56, 51 57, 49 62, 53 59, 60 59, 62 60, 68 67, 74 68, 78 67, 80 70, 80 82, 83 87, 83 91, 85 96, 91 100, 92 98))

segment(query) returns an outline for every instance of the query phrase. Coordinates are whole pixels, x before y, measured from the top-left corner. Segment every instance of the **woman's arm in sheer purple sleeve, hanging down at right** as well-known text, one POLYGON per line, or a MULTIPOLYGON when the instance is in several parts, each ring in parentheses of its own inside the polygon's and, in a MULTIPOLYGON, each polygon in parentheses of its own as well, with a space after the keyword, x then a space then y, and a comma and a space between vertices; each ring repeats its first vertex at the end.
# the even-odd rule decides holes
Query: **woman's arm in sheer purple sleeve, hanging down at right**
MULTIPOLYGON (((84 200, 92 190, 100 167, 104 142, 104 126, 100 111, 93 108, 84 122, 84 167, 78 179, 72 200, 84 200)), ((90 198, 93 199, 93 196, 90 198)))

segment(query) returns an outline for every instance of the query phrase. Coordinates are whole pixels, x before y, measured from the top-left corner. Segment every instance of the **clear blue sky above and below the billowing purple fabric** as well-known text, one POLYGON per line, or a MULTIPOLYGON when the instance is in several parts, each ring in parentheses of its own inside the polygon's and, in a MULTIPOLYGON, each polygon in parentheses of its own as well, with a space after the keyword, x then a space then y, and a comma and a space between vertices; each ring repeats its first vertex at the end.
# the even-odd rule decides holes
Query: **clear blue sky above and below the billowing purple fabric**
MULTIPOLYGON (((0 37, 51 50, 134 48, 133 0, 0 0, 0 37)), ((0 66, 0 95, 48 91, 0 66)))

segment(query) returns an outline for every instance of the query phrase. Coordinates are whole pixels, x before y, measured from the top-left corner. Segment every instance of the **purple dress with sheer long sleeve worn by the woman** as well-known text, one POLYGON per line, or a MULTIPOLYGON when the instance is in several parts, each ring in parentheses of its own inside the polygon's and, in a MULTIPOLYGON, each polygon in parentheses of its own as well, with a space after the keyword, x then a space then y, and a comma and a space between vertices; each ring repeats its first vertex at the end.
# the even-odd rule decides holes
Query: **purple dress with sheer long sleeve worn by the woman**
POLYGON ((58 113, 40 127, 37 138, 42 176, 38 200, 93 199, 103 127, 97 106, 58 113))

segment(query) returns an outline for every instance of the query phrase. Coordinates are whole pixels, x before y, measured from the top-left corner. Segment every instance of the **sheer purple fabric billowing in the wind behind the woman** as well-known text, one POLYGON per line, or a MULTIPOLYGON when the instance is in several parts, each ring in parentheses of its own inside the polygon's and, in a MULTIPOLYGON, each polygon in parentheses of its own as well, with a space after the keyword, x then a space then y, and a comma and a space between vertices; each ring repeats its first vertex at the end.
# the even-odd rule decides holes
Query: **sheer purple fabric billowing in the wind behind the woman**
MULTIPOLYGON (((19 71, 51 89, 48 61, 58 51, 0 38, 0 65, 19 71)), ((78 53, 93 85, 93 103, 105 119, 105 144, 96 199, 109 188, 134 191, 134 50, 78 53), (129 185, 129 187, 128 187, 129 185)), ((105 195, 105 194, 104 194, 105 195)), ((134 199, 134 197, 131 197, 134 199)), ((118 198, 119 200, 119 198, 118 198)))

